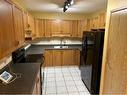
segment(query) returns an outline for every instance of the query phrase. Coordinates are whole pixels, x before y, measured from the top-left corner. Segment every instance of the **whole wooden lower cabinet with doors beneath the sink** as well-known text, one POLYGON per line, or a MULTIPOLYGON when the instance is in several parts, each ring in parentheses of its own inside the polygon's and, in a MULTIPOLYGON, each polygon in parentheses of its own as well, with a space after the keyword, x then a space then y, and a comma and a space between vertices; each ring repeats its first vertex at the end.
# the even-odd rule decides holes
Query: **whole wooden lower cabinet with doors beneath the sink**
POLYGON ((80 50, 45 50, 45 66, 69 66, 80 64, 80 50))

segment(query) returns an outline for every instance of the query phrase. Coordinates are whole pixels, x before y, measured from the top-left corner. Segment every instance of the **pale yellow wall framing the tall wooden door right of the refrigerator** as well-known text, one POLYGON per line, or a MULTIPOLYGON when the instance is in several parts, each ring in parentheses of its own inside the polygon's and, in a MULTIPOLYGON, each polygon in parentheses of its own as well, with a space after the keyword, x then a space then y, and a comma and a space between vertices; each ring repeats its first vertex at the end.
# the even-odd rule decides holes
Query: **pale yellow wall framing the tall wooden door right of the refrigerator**
POLYGON ((105 79, 105 65, 106 65, 106 55, 107 55, 107 39, 108 39, 108 29, 111 11, 119 8, 127 8, 127 0, 108 0, 107 8, 107 20, 106 20, 106 32, 105 32, 105 44, 104 44, 104 53, 103 53, 103 65, 102 65, 102 75, 101 75, 101 89, 100 93, 103 93, 104 79, 105 79))

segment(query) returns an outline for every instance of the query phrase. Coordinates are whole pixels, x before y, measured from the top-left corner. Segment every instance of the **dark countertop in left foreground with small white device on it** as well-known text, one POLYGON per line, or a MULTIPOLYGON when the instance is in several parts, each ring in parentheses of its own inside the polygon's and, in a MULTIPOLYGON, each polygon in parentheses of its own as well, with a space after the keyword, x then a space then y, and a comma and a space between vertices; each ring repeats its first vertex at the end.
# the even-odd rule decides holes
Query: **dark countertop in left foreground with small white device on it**
MULTIPOLYGON (((40 64, 22 63, 13 64, 10 67, 12 72, 20 74, 21 78, 17 78, 7 85, 0 82, 0 94, 32 94, 40 64)), ((4 68, 0 72, 5 70, 9 71, 9 67, 4 68)))

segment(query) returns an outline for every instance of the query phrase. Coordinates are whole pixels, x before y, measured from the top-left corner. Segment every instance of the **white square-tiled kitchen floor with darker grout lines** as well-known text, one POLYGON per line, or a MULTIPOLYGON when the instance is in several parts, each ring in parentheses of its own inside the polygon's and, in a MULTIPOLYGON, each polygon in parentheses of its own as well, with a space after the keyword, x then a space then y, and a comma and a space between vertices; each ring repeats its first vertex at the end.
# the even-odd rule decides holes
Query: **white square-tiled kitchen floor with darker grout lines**
POLYGON ((42 95, 90 95, 77 66, 46 67, 42 95))

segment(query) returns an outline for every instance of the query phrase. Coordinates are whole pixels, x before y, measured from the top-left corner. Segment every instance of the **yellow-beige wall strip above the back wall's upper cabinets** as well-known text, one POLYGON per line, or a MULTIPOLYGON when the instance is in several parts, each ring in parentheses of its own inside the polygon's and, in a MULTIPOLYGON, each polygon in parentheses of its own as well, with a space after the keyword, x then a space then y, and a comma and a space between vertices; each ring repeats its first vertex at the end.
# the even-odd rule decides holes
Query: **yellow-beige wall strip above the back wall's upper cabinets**
POLYGON ((30 12, 34 17, 40 19, 65 19, 65 20, 83 20, 88 15, 85 14, 70 14, 70 13, 43 13, 30 12))

